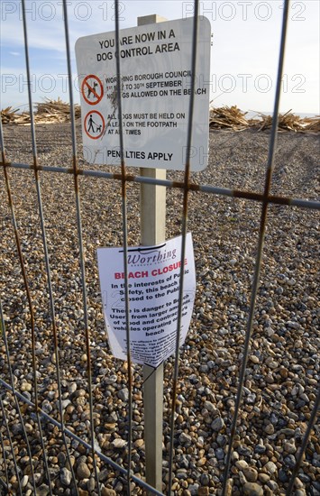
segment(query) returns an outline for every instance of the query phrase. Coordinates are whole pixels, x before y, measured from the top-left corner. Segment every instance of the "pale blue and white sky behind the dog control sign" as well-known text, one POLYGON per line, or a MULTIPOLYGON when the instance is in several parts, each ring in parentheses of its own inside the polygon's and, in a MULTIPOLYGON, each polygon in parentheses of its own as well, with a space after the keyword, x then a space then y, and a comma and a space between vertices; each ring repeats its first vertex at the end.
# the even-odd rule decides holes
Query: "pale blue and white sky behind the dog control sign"
MULTIPOLYGON (((280 111, 319 114, 318 0, 292 0, 282 78, 280 111)), ((66 44, 61 0, 26 0, 32 72, 32 99, 58 96, 69 101, 66 44)), ((0 107, 28 107, 23 15, 20 0, 1 0, 0 107)), ((75 101, 79 102, 75 42, 81 36, 114 31, 114 2, 68 0, 75 101)), ((200 2, 199 14, 212 27, 210 99, 214 106, 271 112, 279 60, 283 2, 232 0, 200 2)), ((193 1, 123 0, 120 28, 137 17, 160 14, 168 20, 193 14, 193 1)))

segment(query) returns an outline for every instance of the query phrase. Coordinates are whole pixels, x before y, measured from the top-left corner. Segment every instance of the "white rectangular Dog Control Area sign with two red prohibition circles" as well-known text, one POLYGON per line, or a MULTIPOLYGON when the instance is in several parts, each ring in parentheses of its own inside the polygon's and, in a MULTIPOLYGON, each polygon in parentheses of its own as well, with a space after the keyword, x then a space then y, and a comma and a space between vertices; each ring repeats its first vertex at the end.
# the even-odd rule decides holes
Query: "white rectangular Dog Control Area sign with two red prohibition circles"
MULTIPOLYGON (((191 170, 208 159, 211 26, 198 18, 191 170)), ((120 57, 126 165, 184 170, 191 94, 193 19, 153 23, 79 38, 76 59, 84 158, 120 164, 116 58, 120 57)))

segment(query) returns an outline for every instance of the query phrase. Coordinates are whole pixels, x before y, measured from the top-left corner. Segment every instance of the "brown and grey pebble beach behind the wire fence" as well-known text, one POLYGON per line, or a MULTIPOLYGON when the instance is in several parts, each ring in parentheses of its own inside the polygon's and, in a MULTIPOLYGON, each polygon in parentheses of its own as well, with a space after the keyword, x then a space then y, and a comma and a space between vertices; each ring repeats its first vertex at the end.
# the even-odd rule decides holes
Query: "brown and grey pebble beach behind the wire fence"
MULTIPOLYGON (((107 166, 79 167, 119 171, 107 166)), ((32 164, 30 126, 5 125, 8 161, 32 164)), ((40 165, 72 167, 68 124, 38 124, 40 165)), ((268 161, 270 132, 210 132, 209 164, 191 180, 219 188, 261 193, 268 161)), ((279 133, 271 194, 319 200, 319 136, 279 133)), ((130 170, 137 174, 137 170, 130 170)), ((16 223, 35 316, 35 355, 40 407, 59 420, 58 387, 50 299, 41 239, 37 192, 32 170, 8 168, 16 223)), ((168 179, 183 179, 168 172, 168 179)), ((64 421, 90 441, 87 351, 78 257, 77 212, 71 174, 40 172, 43 212, 50 255, 52 289, 59 335, 59 369, 64 421)), ((30 309, 23 288, 4 174, 0 176, 0 296, 14 372, 14 387, 34 400, 30 309)), ((121 182, 79 177, 82 231, 86 257, 87 307, 91 347, 96 445, 117 464, 126 465, 127 365, 110 354, 96 249, 121 246, 121 182)), ((167 189, 167 239, 181 232, 183 194, 167 189)), ((140 243, 140 186, 127 185, 128 243, 140 243)), ((190 192, 188 230, 195 251, 197 294, 186 343, 180 349, 175 457, 172 494, 219 495, 225 454, 242 365, 243 343, 257 255, 261 205, 247 199, 190 192)), ((319 221, 318 210, 270 205, 253 320, 251 351, 242 405, 233 443, 229 496, 284 496, 319 388, 319 221)), ((168 493, 169 413, 174 358, 164 363, 163 491, 168 493)), ((9 382, 5 343, 0 338, 0 377, 9 382)), ((133 473, 145 477, 142 366, 133 364, 133 473)), ((4 393, 6 418, 21 470, 23 494, 32 479, 22 426, 13 395, 4 393)), ((32 448, 37 494, 49 494, 43 470, 37 421, 23 406, 32 448)), ((1 427, 0 427, 1 428, 1 427)), ((69 460, 59 429, 42 423, 52 493, 75 494, 69 460)), ((2 429, 12 491, 16 473, 2 429)), ((320 423, 315 422, 293 495, 320 495, 320 423)), ((93 459, 86 447, 68 439, 78 494, 96 495, 93 459)), ((1 446, 0 446, 1 448, 1 446)), ((103 496, 126 494, 126 482, 96 459, 103 496)), ((4 456, 0 477, 5 481, 4 456)), ((132 494, 143 494, 132 482, 132 494)), ((0 494, 2 494, 0 484, 0 494)), ((5 492, 4 492, 5 494, 5 492)))

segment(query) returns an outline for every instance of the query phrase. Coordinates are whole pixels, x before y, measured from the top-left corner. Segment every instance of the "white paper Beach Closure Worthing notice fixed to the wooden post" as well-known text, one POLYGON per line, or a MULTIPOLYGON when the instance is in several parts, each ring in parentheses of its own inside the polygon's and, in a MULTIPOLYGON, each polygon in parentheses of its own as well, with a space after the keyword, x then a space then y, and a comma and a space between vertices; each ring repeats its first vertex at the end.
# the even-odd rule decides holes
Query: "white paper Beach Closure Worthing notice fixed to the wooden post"
MULTIPOLYGON (((187 234, 180 345, 190 324, 196 294, 191 234, 187 234)), ((105 325, 112 353, 127 359, 123 249, 97 250, 105 325)), ((160 246, 128 248, 131 352, 134 363, 158 367, 175 352, 181 236, 160 246)))

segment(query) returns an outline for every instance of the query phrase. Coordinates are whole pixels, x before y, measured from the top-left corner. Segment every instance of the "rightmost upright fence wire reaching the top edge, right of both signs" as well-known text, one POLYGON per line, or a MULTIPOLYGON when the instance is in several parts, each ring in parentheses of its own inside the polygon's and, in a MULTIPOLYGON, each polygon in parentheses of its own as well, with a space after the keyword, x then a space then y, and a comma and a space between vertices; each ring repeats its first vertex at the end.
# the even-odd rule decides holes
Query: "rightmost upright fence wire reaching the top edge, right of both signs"
POLYGON ((237 420, 239 415, 239 410, 242 402, 242 393, 243 393, 243 385, 244 385, 244 377, 245 371, 247 367, 250 344, 251 344, 251 334, 252 334, 252 323, 254 312, 256 308, 256 300, 258 295, 259 283, 260 283, 260 274, 261 274, 261 262, 262 262, 262 254, 264 247, 264 239, 265 239, 265 229, 267 225, 267 214, 269 207, 269 196, 270 196, 270 187, 271 187, 271 179, 272 179, 272 171, 274 167, 274 155, 276 149, 277 142, 277 133, 278 133, 278 115, 279 115, 279 101, 281 94, 281 78, 283 71, 283 62, 284 62, 284 54, 286 48, 286 34, 287 34, 287 25, 288 25, 288 6, 289 0, 285 0, 284 10, 283 10, 283 18, 282 18, 282 29, 281 29, 281 41, 280 41, 280 51, 279 51, 279 65, 278 65, 278 75, 277 75, 277 87, 276 87, 276 96, 273 110, 273 120, 272 120, 272 129, 270 135, 270 147, 269 147, 269 156, 265 177, 265 185, 263 192, 263 202, 261 207, 261 221, 260 221, 260 229, 259 229, 259 240, 258 240, 258 252, 256 256, 252 288, 251 288, 251 301, 250 301, 250 309, 249 309, 249 317, 247 322, 247 331, 245 335, 244 345, 243 345, 243 353, 242 353, 242 366, 239 375, 238 388, 235 399, 235 407, 233 414, 233 421, 230 429, 229 436, 229 445, 228 451, 225 459, 225 467, 224 467, 224 480, 223 480, 223 496, 226 494, 227 490, 227 482, 228 475, 230 470, 231 463, 231 455, 233 450, 233 438, 235 435, 237 420))

